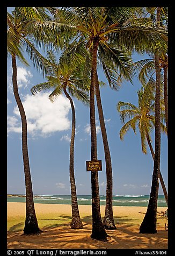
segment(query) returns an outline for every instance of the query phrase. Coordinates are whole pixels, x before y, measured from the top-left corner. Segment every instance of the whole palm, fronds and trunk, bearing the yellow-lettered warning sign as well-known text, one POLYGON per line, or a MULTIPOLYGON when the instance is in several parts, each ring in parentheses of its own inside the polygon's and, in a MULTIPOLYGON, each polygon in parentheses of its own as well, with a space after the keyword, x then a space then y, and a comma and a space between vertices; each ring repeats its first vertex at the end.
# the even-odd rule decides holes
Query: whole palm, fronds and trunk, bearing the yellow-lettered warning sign
MULTIPOLYGON (((164 27, 152 24, 150 20, 130 19, 135 10, 140 8, 120 8, 120 7, 71 7, 55 10, 52 23, 52 33, 55 41, 60 47, 67 46, 67 40, 74 40, 74 47, 70 50, 70 55, 81 47, 82 44, 89 49, 92 56, 91 65, 91 86, 90 86, 90 126, 91 126, 91 160, 97 160, 97 138, 96 122, 94 112, 94 89, 96 87, 97 56, 100 52, 100 46, 103 50, 109 49, 110 44, 118 45, 120 49, 127 51, 154 51, 166 46, 164 36, 164 27), (63 37, 59 37, 58 34, 63 37), (154 37, 156 35, 156 37, 154 37)), ((35 31, 41 34, 41 37, 47 40, 44 26, 35 24, 35 31)), ((31 31, 33 26, 31 26, 31 31)), ((114 54, 115 56, 115 54, 114 54)), ((115 61, 114 61, 115 62, 115 61)), ((104 67, 106 74, 109 69, 104 67)), ((108 170, 106 170, 107 172, 108 170)), ((106 232, 103 228, 100 217, 98 173, 91 173, 92 187, 92 234, 95 239, 106 239, 106 232)))

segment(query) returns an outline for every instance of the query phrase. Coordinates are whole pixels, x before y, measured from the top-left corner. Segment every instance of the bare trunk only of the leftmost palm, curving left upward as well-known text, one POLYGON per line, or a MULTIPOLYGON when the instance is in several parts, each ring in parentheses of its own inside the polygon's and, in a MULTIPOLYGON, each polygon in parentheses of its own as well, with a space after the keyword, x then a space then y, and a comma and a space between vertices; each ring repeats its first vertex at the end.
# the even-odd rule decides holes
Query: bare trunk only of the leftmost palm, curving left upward
POLYGON ((37 217, 34 209, 33 201, 33 191, 32 191, 32 180, 30 173, 30 165, 28 159, 28 148, 27 148, 27 120, 23 104, 18 93, 18 83, 17 83, 17 65, 16 56, 12 56, 12 83, 13 83, 13 93, 16 99, 18 109, 21 117, 22 124, 22 148, 23 148, 23 163, 24 163, 24 175, 25 175, 25 189, 26 189, 26 219, 24 234, 36 234, 42 232, 39 229, 37 217))

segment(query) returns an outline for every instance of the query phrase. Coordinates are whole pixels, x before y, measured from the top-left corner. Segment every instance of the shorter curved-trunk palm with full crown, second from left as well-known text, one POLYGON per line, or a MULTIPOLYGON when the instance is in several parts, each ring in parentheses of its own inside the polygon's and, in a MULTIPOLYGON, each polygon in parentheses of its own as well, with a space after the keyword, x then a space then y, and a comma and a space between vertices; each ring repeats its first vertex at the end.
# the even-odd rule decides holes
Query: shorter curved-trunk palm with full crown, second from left
MULTIPOLYGON (((81 100, 85 104, 89 104, 88 94, 83 89, 83 79, 82 79, 82 63, 78 63, 77 66, 64 65, 61 67, 57 61, 52 51, 48 52, 47 59, 50 62, 50 70, 52 70, 52 75, 46 76, 47 82, 37 84, 32 87, 31 92, 34 95, 38 91, 54 89, 49 95, 50 101, 54 101, 62 91, 65 96, 69 99, 71 110, 72 110, 72 130, 70 139, 70 160, 69 160, 69 176, 70 176, 70 187, 71 187, 71 209, 72 209, 72 219, 71 219, 71 229, 83 229, 83 224, 79 216, 77 193, 76 193, 76 183, 74 175, 74 141, 75 141, 75 130, 76 130, 76 118, 75 118, 75 107, 70 97, 70 94, 77 99, 81 100), (68 91, 69 93, 68 93, 68 91)), ((84 87, 87 90, 87 88, 84 87)))

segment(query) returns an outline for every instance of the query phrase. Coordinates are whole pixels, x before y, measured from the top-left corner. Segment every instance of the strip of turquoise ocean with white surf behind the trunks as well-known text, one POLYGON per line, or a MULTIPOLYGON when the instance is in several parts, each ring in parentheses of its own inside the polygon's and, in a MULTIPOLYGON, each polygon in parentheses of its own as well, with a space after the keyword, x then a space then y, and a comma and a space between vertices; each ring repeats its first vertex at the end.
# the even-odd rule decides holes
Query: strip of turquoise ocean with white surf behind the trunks
MULTIPOLYGON (((8 202, 25 203, 25 195, 8 195, 8 202)), ((77 195, 78 204, 91 205, 90 195, 77 195)), ((147 207, 149 195, 114 195, 113 206, 147 207)), ((34 203, 71 204, 70 195, 34 195, 34 203)), ((100 195, 100 205, 105 205, 106 196, 100 195)), ((158 195, 158 207, 167 207, 164 195, 158 195)))

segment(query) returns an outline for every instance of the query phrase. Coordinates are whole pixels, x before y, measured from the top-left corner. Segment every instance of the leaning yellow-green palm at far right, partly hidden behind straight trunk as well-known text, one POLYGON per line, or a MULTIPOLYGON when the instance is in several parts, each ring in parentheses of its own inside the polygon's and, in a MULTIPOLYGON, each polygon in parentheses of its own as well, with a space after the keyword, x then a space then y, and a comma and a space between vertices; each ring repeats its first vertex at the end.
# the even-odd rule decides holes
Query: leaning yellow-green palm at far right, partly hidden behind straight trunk
MULTIPOLYGON (((155 126, 155 83, 149 83, 147 86, 142 87, 141 90, 138 90, 138 107, 132 103, 125 103, 125 102, 118 102, 117 109, 120 112, 120 118, 123 123, 127 118, 130 118, 125 125, 122 126, 120 130, 120 139, 123 140, 126 132, 129 129, 133 129, 134 133, 136 133, 136 124, 140 131, 141 135, 141 146, 142 152, 147 154, 147 141, 152 159, 154 160, 155 154, 151 144, 151 137, 150 132, 153 130, 155 126)), ((165 108, 164 102, 161 101, 161 130, 162 132, 166 132, 166 127, 163 124, 164 117, 165 117, 165 108)), ((164 192, 165 200, 168 205, 168 195, 166 191, 166 187, 163 181, 163 177, 161 171, 159 172, 159 180, 161 181, 162 189, 164 192)))

